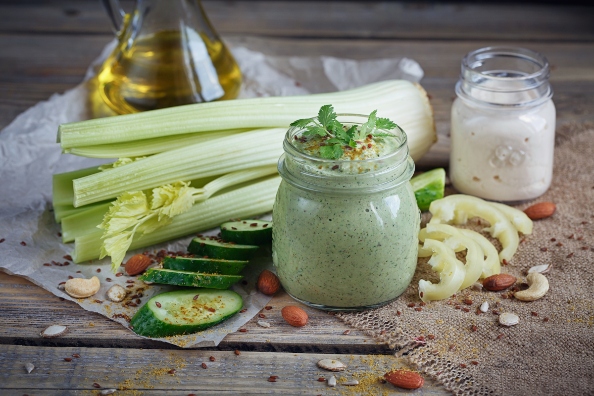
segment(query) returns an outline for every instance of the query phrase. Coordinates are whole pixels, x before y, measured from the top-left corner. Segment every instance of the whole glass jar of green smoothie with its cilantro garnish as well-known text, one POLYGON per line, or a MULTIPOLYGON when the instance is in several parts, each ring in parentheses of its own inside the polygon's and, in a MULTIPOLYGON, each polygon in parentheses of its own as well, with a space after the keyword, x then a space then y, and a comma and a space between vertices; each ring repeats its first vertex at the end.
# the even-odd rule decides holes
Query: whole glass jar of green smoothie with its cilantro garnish
POLYGON ((287 131, 273 209, 273 261, 293 298, 329 311, 384 305, 416 268, 420 211, 406 134, 387 119, 336 115, 287 131))

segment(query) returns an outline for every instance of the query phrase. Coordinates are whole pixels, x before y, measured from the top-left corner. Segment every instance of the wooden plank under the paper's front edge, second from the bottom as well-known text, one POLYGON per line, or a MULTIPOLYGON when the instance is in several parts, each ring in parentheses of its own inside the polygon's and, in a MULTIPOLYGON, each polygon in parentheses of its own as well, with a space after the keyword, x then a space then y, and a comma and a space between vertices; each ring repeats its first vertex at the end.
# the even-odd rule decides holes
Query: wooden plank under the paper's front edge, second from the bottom
MULTIPOLYGON (((244 328, 248 332, 227 335, 219 350, 284 351, 295 353, 386 354, 389 349, 363 332, 351 329, 325 311, 305 307, 285 292, 271 300, 266 319, 252 318, 244 328), (299 305, 307 311, 309 322, 302 328, 292 327, 280 315, 286 305, 299 305), (266 320, 270 328, 260 327, 266 320), (343 334, 351 330, 349 335, 343 334)), ((122 325, 99 313, 88 312, 77 304, 54 296, 28 280, 0 271, 0 344, 27 346, 94 346, 121 348, 178 349, 172 344, 137 337, 122 325), (58 338, 43 338, 39 333, 50 324, 69 328, 58 338)))

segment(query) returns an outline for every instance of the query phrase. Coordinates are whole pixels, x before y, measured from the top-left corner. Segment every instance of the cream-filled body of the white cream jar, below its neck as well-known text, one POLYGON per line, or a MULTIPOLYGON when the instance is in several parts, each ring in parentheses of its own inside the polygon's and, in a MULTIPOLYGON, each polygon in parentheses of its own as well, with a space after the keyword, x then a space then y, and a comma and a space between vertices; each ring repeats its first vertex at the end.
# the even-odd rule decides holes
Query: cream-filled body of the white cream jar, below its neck
POLYGON ((485 109, 460 98, 451 108, 450 179, 457 191, 493 201, 540 197, 551 185, 555 105, 485 109))

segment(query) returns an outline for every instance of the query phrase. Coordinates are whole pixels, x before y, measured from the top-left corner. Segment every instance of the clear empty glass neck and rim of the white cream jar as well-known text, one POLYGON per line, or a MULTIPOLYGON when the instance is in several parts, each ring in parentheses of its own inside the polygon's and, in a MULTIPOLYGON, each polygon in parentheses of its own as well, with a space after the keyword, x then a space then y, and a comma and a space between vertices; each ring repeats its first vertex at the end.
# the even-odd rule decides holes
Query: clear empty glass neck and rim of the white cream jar
POLYGON ((549 62, 520 47, 485 47, 462 59, 456 94, 481 107, 535 107, 552 97, 549 62))

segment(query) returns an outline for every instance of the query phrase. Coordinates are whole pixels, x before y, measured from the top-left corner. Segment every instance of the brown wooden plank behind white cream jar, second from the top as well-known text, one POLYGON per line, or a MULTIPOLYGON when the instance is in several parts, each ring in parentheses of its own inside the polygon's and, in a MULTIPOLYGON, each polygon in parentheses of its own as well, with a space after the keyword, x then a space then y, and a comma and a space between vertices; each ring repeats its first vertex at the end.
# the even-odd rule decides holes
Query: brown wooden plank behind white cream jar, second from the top
MULTIPOLYGON (((407 56, 425 70, 422 85, 431 94, 439 141, 418 161, 419 169, 447 166, 450 107, 460 59, 470 50, 503 42, 415 40, 262 39, 229 36, 232 45, 244 45, 271 55, 333 55, 365 59, 407 56)), ((110 36, 0 34, 0 128, 18 113, 52 93, 64 91, 83 78, 87 66, 110 36), (23 48, 29 50, 24 51, 23 48)), ((530 43, 548 56, 552 65, 557 123, 594 121, 594 43, 530 43)))

